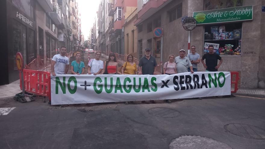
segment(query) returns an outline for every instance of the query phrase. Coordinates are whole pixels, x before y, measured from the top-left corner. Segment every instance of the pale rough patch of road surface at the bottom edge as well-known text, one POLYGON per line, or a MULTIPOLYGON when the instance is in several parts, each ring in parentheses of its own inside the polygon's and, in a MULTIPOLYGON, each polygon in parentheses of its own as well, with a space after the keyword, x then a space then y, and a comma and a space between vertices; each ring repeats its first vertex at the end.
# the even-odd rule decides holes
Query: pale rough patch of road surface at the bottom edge
POLYGON ((201 136, 184 135, 173 139, 169 144, 170 149, 197 149, 197 148, 222 148, 232 149, 227 144, 201 136))

